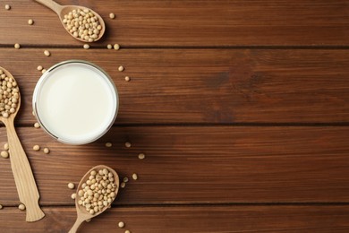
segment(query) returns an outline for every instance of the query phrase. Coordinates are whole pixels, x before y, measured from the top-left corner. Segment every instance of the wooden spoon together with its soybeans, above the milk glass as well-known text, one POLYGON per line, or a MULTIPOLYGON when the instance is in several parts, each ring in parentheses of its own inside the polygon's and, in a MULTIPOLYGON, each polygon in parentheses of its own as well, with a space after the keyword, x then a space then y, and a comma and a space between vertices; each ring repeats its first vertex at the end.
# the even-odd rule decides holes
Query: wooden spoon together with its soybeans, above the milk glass
POLYGON ((102 17, 91 9, 80 5, 60 5, 53 0, 35 0, 58 14, 64 29, 73 38, 83 42, 94 42, 101 39, 106 31, 102 17))

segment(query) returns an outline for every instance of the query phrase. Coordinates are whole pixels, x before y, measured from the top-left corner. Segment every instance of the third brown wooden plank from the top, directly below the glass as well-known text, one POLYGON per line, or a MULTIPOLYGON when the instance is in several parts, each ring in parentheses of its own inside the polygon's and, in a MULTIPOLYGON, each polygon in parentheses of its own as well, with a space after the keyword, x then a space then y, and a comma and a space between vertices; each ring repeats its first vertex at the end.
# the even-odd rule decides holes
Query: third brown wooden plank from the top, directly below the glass
MULTIPOLYGON (((41 204, 72 204, 69 182, 98 164, 132 177, 119 204, 347 203, 349 127, 113 127, 83 146, 18 128, 41 204), (106 148, 105 142, 113 142, 106 148), (132 142, 131 148, 124 142, 132 142), (32 146, 51 149, 49 155, 32 146), (144 152, 145 160, 138 154, 144 152)), ((5 142, 0 128, 0 143, 5 142)), ((2 146, 2 144, 0 144, 2 146)), ((9 160, 0 162, 0 202, 18 204, 9 160)))

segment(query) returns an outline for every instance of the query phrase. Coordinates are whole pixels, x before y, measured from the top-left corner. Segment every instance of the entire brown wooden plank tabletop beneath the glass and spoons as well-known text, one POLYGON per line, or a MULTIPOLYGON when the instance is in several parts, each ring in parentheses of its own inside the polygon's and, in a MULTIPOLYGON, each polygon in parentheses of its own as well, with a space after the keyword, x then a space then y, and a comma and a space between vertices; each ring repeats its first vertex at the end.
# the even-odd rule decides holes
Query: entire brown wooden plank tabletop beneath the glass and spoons
POLYGON ((1 232, 67 232, 67 184, 98 164, 130 181, 81 232, 349 232, 349 1, 57 2, 100 13, 106 35, 83 49, 46 7, 2 1, 0 66, 21 87, 16 127, 46 217, 25 221, 1 159, 1 232), (120 95, 115 125, 88 145, 33 127, 37 66, 68 59, 101 66, 120 95))

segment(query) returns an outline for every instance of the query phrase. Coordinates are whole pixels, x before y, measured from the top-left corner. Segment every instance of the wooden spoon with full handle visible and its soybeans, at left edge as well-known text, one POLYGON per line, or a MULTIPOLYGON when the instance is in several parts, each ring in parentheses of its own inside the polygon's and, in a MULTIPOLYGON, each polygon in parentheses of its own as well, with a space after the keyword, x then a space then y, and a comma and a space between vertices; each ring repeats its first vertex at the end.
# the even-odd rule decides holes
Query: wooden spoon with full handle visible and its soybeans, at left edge
POLYGON ((0 121, 4 123, 10 151, 11 168, 21 203, 26 206, 27 221, 40 220, 45 216, 38 205, 38 187, 30 163, 14 129, 14 117, 21 106, 21 94, 13 75, 0 67, 0 121))

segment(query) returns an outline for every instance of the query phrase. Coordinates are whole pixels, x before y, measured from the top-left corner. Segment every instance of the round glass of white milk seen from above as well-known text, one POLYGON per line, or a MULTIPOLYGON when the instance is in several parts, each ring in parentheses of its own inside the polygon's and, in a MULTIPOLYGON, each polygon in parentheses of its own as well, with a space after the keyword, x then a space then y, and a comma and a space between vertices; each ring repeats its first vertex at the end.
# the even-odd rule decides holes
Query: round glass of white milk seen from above
POLYGON ((119 98, 114 82, 100 67, 69 60, 41 76, 32 105, 38 123, 56 140, 86 144, 114 124, 119 98))

